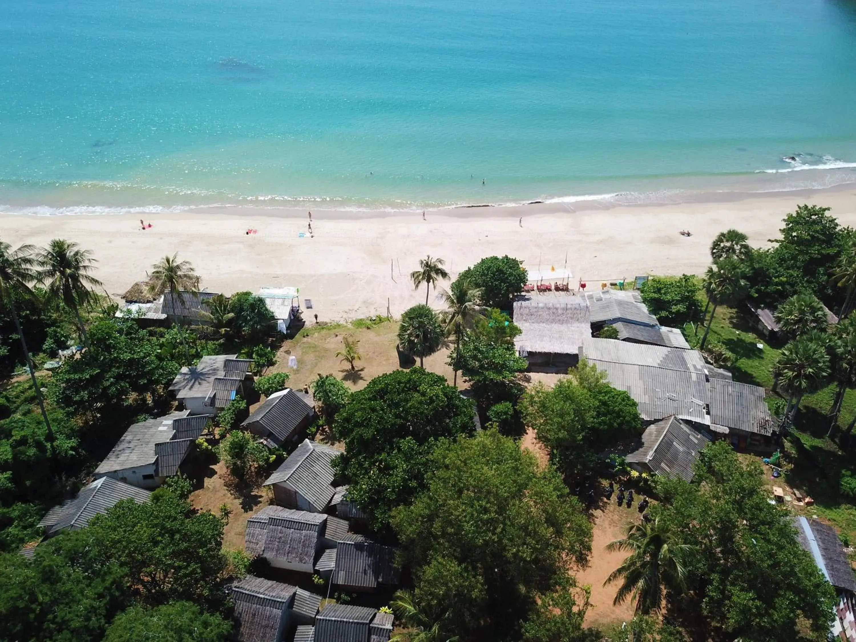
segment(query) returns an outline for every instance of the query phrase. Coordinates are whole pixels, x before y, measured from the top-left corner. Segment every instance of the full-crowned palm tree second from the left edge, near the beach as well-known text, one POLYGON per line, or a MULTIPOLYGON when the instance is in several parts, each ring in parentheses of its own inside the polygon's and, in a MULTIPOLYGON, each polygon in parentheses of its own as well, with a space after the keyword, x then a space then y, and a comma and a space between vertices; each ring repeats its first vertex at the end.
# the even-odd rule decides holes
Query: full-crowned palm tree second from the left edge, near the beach
POLYGON ((92 290, 103 285, 90 272, 95 269, 96 259, 92 251, 81 250, 74 241, 54 239, 36 256, 39 265, 39 281, 45 284, 48 296, 55 303, 62 303, 77 317, 77 328, 85 346, 89 345, 86 325, 80 318, 80 306, 92 300, 92 290))

